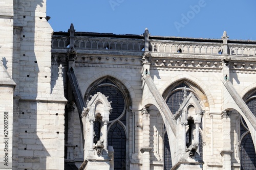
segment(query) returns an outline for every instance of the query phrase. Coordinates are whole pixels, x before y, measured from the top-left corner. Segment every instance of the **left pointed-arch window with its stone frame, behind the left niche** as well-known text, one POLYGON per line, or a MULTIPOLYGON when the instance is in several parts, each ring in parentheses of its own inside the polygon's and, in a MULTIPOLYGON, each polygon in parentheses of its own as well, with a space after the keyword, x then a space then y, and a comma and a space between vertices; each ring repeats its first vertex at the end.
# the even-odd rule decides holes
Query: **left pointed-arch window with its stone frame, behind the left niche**
MULTIPOLYGON (((129 107, 130 95, 125 89, 125 87, 116 79, 105 77, 97 82, 93 83, 90 91, 86 92, 85 100, 87 101, 90 95, 94 95, 97 92, 101 92, 105 96, 108 96, 108 101, 112 102, 112 112, 109 115, 108 124, 108 145, 111 145, 114 149, 114 169, 127 169, 128 164, 126 155, 126 126, 127 126, 127 114, 126 110, 129 107)), ((94 131, 96 135, 96 140, 99 138, 99 127, 100 124, 97 122, 94 124, 94 131)))

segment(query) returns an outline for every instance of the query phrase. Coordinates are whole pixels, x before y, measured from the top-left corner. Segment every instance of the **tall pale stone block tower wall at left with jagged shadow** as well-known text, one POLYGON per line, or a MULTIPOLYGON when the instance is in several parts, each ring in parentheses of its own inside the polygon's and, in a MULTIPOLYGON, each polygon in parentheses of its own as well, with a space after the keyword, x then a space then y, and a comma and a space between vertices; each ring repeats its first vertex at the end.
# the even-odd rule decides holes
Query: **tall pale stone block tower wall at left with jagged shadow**
POLYGON ((12 169, 63 169, 66 99, 58 66, 51 71, 46 1, 13 1, 13 8, 12 169))

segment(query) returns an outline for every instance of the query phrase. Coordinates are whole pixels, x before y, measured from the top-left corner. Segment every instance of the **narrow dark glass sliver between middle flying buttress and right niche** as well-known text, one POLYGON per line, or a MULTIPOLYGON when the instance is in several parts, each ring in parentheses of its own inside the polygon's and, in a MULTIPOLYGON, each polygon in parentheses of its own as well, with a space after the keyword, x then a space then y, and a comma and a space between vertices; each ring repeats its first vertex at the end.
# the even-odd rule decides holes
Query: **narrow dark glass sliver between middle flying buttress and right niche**
POLYGON ((173 167, 172 156, 170 155, 170 145, 168 135, 164 134, 164 170, 169 170, 173 167))

